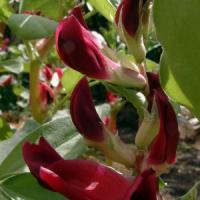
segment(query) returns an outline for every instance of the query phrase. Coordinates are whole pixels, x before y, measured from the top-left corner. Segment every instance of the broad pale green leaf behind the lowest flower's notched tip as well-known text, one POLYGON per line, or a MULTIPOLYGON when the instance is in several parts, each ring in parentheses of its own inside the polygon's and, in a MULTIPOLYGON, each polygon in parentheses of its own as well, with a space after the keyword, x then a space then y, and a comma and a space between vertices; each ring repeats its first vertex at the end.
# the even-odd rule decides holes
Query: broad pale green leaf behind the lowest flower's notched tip
POLYGON ((22 144, 25 140, 35 143, 42 135, 54 148, 58 148, 58 152, 61 151, 65 158, 68 158, 68 155, 69 158, 75 158, 84 151, 85 145, 84 142, 81 142, 82 137, 79 135, 77 137, 76 129, 70 117, 56 119, 43 125, 30 121, 22 131, 16 133, 11 139, 0 143, 0 177, 9 173, 24 171, 22 144), (66 152, 63 151, 62 147, 71 145, 71 147, 76 148, 77 144, 79 149, 74 154, 73 148, 66 150, 66 152))

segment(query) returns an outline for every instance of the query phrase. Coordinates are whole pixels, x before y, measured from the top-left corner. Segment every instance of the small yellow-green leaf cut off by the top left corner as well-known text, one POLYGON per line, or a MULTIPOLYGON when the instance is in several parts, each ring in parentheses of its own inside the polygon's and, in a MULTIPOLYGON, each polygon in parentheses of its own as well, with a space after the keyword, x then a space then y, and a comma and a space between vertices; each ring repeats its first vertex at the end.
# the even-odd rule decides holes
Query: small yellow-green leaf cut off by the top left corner
POLYGON ((10 7, 8 0, 0 1, 0 21, 6 23, 7 19, 12 15, 12 8, 10 7))

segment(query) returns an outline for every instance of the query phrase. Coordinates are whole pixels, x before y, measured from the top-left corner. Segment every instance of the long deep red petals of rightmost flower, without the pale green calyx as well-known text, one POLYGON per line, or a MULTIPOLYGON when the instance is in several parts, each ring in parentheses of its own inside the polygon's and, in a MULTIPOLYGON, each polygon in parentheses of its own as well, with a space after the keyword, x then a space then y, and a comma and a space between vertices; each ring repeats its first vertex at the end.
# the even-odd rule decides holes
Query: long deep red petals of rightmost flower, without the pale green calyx
POLYGON ((179 138, 176 114, 160 86, 158 75, 147 73, 147 76, 150 86, 148 109, 151 110, 153 99, 155 99, 160 118, 159 132, 150 146, 148 163, 153 165, 170 164, 175 161, 179 138))

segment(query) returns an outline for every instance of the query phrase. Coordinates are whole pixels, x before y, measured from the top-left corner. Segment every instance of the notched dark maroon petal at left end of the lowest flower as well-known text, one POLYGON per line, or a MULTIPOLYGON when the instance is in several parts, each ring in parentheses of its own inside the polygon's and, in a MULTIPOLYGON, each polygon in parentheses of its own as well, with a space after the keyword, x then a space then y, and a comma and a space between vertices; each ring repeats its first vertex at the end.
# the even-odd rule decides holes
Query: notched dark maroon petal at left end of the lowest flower
POLYGON ((23 157, 31 173, 39 178, 39 169, 41 166, 48 167, 56 161, 62 160, 62 157, 41 137, 39 144, 30 144, 25 142, 22 148, 23 157))

